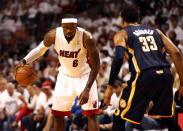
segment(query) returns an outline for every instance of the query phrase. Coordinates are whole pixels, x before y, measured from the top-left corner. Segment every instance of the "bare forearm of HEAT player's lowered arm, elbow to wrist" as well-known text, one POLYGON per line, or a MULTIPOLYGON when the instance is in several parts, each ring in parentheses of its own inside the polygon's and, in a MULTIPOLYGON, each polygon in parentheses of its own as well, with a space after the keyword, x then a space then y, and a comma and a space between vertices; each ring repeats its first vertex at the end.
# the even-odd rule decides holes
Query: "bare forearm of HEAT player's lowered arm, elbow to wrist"
POLYGON ((88 78, 88 82, 86 84, 86 87, 89 89, 91 88, 93 82, 96 80, 100 68, 100 60, 98 52, 92 54, 92 56, 90 56, 90 60, 91 60, 91 71, 88 78))

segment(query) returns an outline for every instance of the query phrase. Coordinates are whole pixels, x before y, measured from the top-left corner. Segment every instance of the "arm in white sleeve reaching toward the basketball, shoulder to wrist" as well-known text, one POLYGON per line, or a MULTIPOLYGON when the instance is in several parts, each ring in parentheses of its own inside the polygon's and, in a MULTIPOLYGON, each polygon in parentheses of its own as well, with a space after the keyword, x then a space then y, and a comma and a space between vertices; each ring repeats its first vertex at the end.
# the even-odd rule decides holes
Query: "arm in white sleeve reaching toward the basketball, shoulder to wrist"
POLYGON ((44 36, 44 40, 36 48, 31 50, 23 59, 23 64, 29 64, 38 59, 40 56, 44 55, 49 47, 55 43, 55 35, 56 29, 53 29, 46 33, 46 35, 44 36))

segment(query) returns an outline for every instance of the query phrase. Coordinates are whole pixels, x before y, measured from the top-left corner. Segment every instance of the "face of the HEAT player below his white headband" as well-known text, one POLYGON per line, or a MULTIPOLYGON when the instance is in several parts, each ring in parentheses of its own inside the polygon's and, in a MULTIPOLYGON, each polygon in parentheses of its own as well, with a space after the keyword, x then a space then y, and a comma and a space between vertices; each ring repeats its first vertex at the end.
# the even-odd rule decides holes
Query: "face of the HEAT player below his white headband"
POLYGON ((67 38, 73 38, 76 33, 77 23, 64 23, 62 24, 64 35, 67 38))

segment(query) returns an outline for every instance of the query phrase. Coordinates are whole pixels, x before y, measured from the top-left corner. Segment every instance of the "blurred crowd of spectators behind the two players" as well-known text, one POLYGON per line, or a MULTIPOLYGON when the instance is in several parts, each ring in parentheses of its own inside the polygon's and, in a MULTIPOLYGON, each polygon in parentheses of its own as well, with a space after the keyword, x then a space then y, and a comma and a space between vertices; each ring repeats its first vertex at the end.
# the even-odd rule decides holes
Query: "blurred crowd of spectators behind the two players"
MULTIPOLYGON (((128 62, 124 60, 119 78, 115 82, 118 88, 112 96, 112 106, 105 107, 103 95, 113 59, 113 36, 121 29, 121 9, 128 5, 139 8, 141 23, 162 30, 183 52, 182 0, 2 0, 2 3, 3 5, 0 6, 0 131, 12 129, 41 131, 45 125, 49 126, 47 121, 49 117, 52 119, 49 113, 52 91, 58 73, 58 59, 53 47, 32 63, 37 72, 37 80, 33 85, 28 87, 18 85, 14 78, 14 69, 19 60, 39 44, 47 31, 60 26, 61 18, 65 13, 75 14, 79 26, 90 31, 96 40, 101 63, 97 76, 100 100, 98 119, 101 130, 111 129, 112 115, 122 89, 130 78, 128 62)), ((178 74, 168 54, 167 59, 172 65, 176 91, 179 88, 178 74)), ((87 129, 87 119, 82 116, 77 99, 73 103, 73 115, 65 117, 67 131, 87 129)), ((146 116, 144 119, 146 120, 146 116)))

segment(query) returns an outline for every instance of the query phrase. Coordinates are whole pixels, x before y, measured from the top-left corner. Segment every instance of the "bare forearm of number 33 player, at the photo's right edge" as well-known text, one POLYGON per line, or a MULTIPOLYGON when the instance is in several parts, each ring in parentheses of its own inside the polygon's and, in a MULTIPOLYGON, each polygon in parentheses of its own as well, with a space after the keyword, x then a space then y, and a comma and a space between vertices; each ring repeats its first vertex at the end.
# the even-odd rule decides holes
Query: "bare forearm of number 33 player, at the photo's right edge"
POLYGON ((180 83, 183 85, 183 54, 180 51, 177 51, 172 55, 172 58, 179 74, 180 83))

